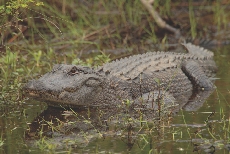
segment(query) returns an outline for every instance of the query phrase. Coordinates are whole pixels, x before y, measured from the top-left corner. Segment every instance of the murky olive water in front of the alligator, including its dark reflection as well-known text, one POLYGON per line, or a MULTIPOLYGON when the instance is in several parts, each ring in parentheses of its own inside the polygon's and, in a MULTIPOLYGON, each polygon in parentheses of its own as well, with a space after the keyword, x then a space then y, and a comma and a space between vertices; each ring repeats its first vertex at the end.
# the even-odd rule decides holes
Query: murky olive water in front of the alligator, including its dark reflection
POLYGON ((227 153, 230 117, 229 49, 223 47, 215 53, 218 65, 216 77, 219 79, 215 81, 217 88, 214 92, 201 92, 194 95, 193 99, 185 97, 179 105, 184 110, 175 106, 174 112, 177 114, 172 116, 172 112, 167 112, 161 120, 156 118, 156 112, 140 114, 133 111, 131 114, 130 110, 120 112, 119 108, 44 110, 45 104, 33 100, 26 101, 18 109, 2 107, 0 137, 4 144, 0 152, 41 153, 42 147, 34 145, 47 136, 47 141, 51 139, 48 145, 57 144, 55 151, 58 151, 57 148, 71 147, 72 151, 79 153, 192 153, 207 149, 227 153))

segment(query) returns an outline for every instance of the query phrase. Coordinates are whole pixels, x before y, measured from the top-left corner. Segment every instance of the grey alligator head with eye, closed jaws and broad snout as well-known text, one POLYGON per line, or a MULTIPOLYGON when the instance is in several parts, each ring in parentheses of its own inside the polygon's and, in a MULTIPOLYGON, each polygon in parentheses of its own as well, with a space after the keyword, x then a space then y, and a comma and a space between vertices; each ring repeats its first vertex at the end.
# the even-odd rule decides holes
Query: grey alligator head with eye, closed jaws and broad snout
POLYGON ((29 81, 23 90, 52 106, 88 105, 102 92, 103 84, 103 76, 92 68, 60 64, 41 78, 29 81))

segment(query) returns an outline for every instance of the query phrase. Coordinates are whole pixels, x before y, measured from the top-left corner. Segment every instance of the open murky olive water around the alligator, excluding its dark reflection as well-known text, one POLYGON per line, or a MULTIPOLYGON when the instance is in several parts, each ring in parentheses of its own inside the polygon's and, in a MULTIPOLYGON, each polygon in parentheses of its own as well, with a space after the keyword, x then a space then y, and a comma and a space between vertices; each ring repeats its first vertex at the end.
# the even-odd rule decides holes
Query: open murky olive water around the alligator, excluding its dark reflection
MULTIPOLYGON (((0 153, 229 153, 230 46, 211 50, 215 52, 218 65, 217 88, 197 111, 181 110, 159 126, 152 124, 156 127, 149 131, 138 127, 123 133, 122 130, 128 128, 116 124, 108 128, 104 136, 90 137, 93 133, 81 132, 82 135, 72 138, 78 144, 70 147, 67 144, 70 142, 65 142, 66 148, 63 150, 59 147, 65 143, 53 146, 52 142, 47 144, 44 141, 35 146, 34 143, 39 139, 34 140, 33 135, 28 137, 28 129, 32 129, 29 124, 46 109, 46 105, 27 100, 17 109, 0 108, 0 145, 3 143, 0 153)), ((94 130, 99 131, 96 128, 94 130)))

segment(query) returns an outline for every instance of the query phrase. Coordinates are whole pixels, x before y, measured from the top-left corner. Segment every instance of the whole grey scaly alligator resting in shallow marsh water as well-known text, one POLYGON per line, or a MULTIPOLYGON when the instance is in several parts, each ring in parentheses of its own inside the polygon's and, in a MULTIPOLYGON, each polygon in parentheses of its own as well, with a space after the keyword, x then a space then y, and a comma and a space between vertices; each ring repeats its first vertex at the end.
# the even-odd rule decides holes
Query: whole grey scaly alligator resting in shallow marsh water
POLYGON ((173 102, 184 95, 192 97, 194 90, 213 89, 209 79, 217 70, 213 53, 191 43, 182 45, 188 53, 147 52, 98 68, 57 64, 23 89, 50 106, 64 107, 109 107, 162 95, 173 102))

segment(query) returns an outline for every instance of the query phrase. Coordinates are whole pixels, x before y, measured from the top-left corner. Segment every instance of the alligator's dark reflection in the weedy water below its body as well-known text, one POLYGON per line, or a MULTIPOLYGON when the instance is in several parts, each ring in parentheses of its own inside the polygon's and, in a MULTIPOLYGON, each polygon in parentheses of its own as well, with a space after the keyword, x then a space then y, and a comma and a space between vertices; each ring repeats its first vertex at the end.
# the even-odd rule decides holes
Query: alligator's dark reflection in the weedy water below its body
MULTIPOLYGON (((213 91, 199 91, 192 98, 178 97, 180 105, 159 111, 135 106, 116 108, 78 108, 61 109, 48 107, 30 125, 26 132, 26 139, 41 139, 42 136, 52 138, 49 144, 58 148, 86 147, 93 140, 107 140, 115 137, 126 145, 126 150, 132 150, 146 134, 158 136, 161 140, 164 133, 162 128, 170 127, 172 114, 181 107, 185 110, 196 111, 213 91), (184 102, 184 101, 187 102, 184 102)), ((190 96, 190 95, 187 95, 190 96)), ((148 137, 147 143, 152 144, 148 137)), ((154 140, 155 141, 155 140, 154 140)), ((162 142, 162 141, 161 141, 162 142)), ((165 141, 164 141, 165 142, 165 141)), ((155 148, 155 145, 149 145, 155 148)), ((124 149, 120 149, 124 150, 124 149)), ((122 151, 120 151, 122 152, 122 151)))

